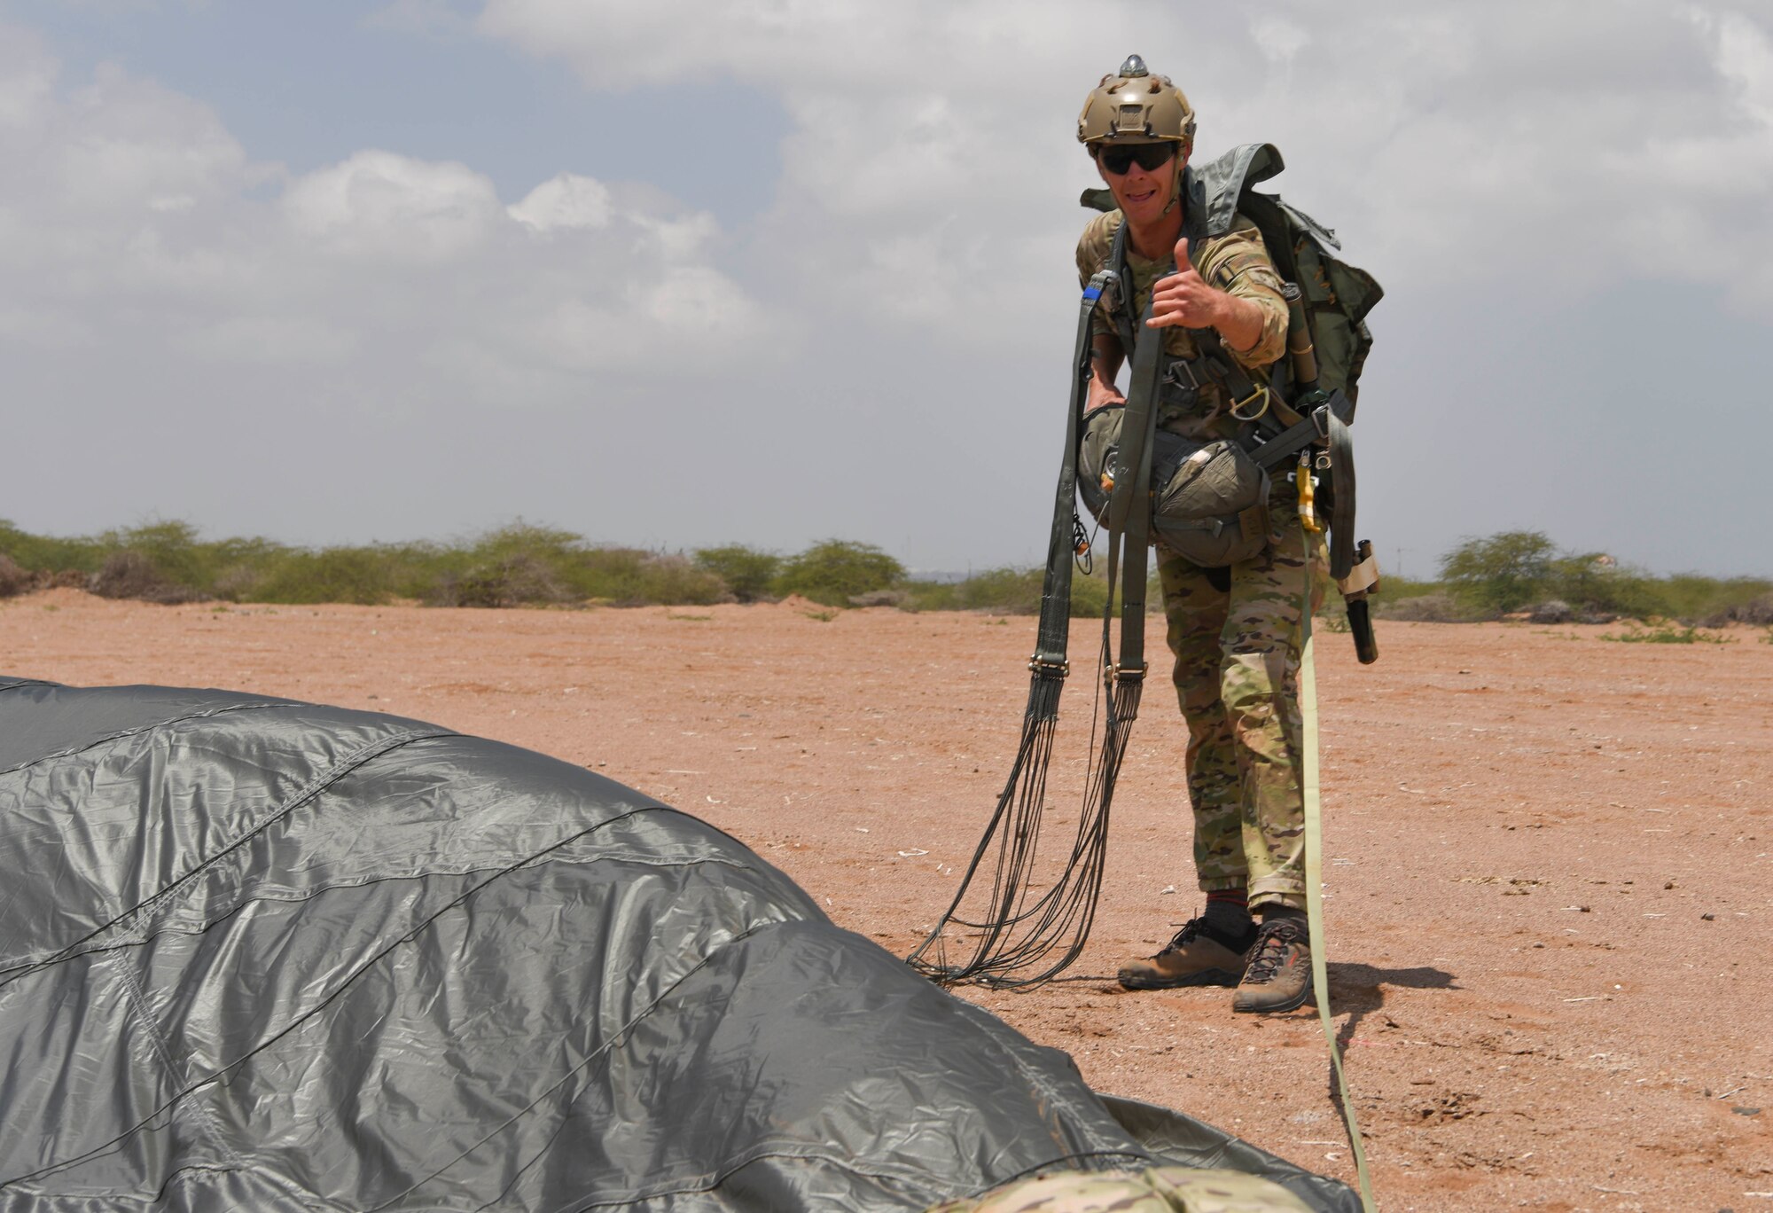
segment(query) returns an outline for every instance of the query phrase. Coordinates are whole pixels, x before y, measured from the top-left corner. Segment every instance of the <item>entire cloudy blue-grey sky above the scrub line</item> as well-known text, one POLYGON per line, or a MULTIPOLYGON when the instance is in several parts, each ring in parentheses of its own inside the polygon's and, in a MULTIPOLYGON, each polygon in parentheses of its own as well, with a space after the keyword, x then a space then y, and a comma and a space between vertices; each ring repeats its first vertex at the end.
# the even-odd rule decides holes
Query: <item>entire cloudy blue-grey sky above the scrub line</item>
POLYGON ((0 0, 0 518, 1032 564, 1128 51, 1385 284, 1383 562, 1773 575, 1764 0, 0 0))

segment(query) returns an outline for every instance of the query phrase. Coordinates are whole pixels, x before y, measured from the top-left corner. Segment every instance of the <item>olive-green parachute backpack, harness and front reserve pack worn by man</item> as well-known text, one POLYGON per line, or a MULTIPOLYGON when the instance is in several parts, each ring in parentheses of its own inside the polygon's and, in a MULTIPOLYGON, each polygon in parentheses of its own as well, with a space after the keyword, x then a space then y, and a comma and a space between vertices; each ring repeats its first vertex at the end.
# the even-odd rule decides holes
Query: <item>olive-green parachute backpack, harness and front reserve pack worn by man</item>
MULTIPOLYGON (((1207 239, 1223 236, 1239 215, 1255 223, 1289 305, 1287 356, 1273 364, 1266 383, 1252 380, 1225 355, 1211 330, 1197 330, 1202 358, 1172 364, 1188 378, 1218 380, 1241 422, 1238 438, 1200 442, 1167 431, 1149 436, 1152 459, 1151 527, 1177 555, 1202 567, 1222 567, 1262 552, 1269 537, 1268 497, 1271 473, 1280 473, 1301 450, 1316 445, 1312 475, 1324 481, 1332 575, 1346 578, 1355 564, 1355 466, 1347 424, 1355 420, 1360 372, 1372 348, 1367 312, 1383 291, 1372 275, 1340 255, 1335 232, 1280 195, 1254 186, 1285 167, 1273 144, 1245 144, 1218 160, 1190 167, 1184 188, 1191 215, 1202 216, 1207 239), (1307 429, 1316 427, 1314 433, 1307 429)), ((1113 211, 1108 190, 1087 190, 1083 206, 1113 211)), ((1124 261, 1126 225, 1113 232, 1108 286, 1122 348, 1131 355, 1131 277, 1124 261)), ((1193 387, 1193 383, 1177 383, 1193 387)), ((1083 420, 1078 489, 1089 511, 1103 520, 1122 450, 1124 408, 1110 404, 1083 420)))

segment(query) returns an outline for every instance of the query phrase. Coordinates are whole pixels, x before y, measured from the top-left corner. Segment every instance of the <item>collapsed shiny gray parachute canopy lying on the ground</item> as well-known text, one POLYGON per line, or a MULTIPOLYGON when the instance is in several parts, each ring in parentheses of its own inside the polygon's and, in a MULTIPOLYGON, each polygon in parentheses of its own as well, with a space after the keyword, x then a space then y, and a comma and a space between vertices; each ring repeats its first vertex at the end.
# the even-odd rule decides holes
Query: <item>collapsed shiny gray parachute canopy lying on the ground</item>
POLYGON ((1358 1209, 576 766, 0 677, 0 1209, 924 1209, 1165 1162, 1358 1209))

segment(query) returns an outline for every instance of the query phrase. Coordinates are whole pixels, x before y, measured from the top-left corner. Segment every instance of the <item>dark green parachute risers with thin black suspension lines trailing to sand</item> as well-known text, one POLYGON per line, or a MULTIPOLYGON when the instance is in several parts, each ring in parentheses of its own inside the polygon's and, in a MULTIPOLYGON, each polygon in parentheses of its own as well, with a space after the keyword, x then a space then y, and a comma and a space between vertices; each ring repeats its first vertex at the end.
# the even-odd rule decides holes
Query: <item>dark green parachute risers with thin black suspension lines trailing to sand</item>
MULTIPOLYGON (((1151 433, 1156 427, 1161 333, 1133 348, 1129 399, 1121 452, 1121 475, 1108 523, 1108 608, 1103 614, 1097 711, 1090 720, 1092 754, 1085 771, 1083 805, 1076 837, 1062 869, 1044 892, 1035 894, 1035 849, 1046 809, 1046 771, 1053 757, 1058 695, 1069 663, 1071 567, 1078 555, 1076 475, 1083 406, 1089 401, 1090 333, 1096 301, 1105 289, 1124 286, 1113 270, 1090 278, 1078 305, 1078 339, 1073 353, 1071 403, 1066 420, 1066 454, 1053 498, 1053 528, 1041 585, 1041 624, 1028 660, 1028 706, 1023 711, 1021 743, 1009 779, 984 837, 961 878, 947 912, 906 958, 918 972, 941 984, 972 981, 996 988, 1039 986, 1066 970, 1083 951, 1096 919, 1103 864, 1108 855, 1108 809, 1126 757, 1128 738, 1138 715, 1145 681, 1145 564, 1151 527, 1151 433), (1124 560, 1122 560, 1124 557, 1124 560), (1112 660, 1113 587, 1121 575, 1121 653, 1112 660), (1103 715, 1106 699, 1106 715, 1103 715), (1097 732, 1097 725, 1101 731, 1097 732), (973 880, 991 867, 991 890, 972 892, 973 880), (982 904, 980 904, 982 903, 982 904), (963 913, 963 906, 966 906, 963 913), (970 956, 947 956, 943 933, 970 933, 970 956)), ((1147 309, 1149 316, 1149 309, 1147 309)), ((1044 876, 1044 873, 1041 873, 1044 876)), ((980 880, 980 885, 984 881, 980 880)))

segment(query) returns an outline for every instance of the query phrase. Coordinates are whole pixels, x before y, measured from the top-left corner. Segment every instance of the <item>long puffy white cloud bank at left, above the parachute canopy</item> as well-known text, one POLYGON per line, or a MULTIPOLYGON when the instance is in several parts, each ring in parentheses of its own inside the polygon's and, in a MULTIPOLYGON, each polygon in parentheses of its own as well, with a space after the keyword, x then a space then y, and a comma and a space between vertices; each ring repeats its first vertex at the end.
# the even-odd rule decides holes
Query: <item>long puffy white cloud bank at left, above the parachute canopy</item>
MULTIPOLYGON (((195 99, 117 67, 59 87, 41 43, 0 34, 0 339, 277 364, 314 394, 397 362, 404 397, 440 403, 537 362, 697 376, 771 356, 766 310, 711 261, 715 220, 654 188, 562 174, 507 207, 468 165, 379 149, 291 176, 195 99), (468 380, 443 353, 461 349, 468 380)), ((548 387, 484 403, 582 390, 548 387)))

